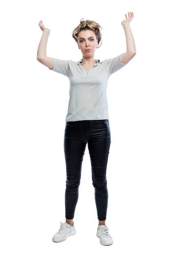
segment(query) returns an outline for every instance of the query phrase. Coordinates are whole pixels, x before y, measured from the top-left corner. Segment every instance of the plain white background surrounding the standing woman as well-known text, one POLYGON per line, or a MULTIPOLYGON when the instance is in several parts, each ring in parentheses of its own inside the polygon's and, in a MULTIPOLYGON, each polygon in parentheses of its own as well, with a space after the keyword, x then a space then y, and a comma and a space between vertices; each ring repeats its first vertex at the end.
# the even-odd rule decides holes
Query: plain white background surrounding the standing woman
MULTIPOLYGON (((0 16, 0 254, 170 255, 169 13, 162 1, 6 1, 0 16), (111 147, 107 181, 114 244, 96 237, 97 213, 86 149, 75 211, 76 236, 52 237, 65 221, 63 152, 69 85, 37 59, 51 29, 48 56, 78 61, 71 36, 82 18, 102 26, 101 61, 126 51, 128 11, 137 54, 110 77, 111 147), (88 192, 85 193, 88 186, 88 192)), ((88 104, 88 103, 87 103, 88 104)))

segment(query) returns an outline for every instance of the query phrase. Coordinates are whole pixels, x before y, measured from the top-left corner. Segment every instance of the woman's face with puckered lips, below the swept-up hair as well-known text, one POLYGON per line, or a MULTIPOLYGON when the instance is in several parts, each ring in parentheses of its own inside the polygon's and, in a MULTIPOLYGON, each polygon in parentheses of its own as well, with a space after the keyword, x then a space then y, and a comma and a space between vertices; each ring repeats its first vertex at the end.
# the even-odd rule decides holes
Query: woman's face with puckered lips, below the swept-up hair
POLYGON ((78 34, 78 47, 86 58, 94 56, 98 40, 92 30, 82 30, 78 34))

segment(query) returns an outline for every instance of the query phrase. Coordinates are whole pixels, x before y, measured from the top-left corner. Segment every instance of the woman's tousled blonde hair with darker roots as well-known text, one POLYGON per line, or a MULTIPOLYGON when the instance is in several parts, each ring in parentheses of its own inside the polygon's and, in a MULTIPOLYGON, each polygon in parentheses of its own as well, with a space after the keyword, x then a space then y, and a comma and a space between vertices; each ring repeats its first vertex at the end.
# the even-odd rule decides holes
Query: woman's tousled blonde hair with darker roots
POLYGON ((80 24, 72 32, 72 36, 75 39, 76 43, 78 42, 77 36, 82 30, 93 30, 98 40, 97 48, 102 45, 102 27, 97 22, 95 22, 94 20, 80 20, 80 24))

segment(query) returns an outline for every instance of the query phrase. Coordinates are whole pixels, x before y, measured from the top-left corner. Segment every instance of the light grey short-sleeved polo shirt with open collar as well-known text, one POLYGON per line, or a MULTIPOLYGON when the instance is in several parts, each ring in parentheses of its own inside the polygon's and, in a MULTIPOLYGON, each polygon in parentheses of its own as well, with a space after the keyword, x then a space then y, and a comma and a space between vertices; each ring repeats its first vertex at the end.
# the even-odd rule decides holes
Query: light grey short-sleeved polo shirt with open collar
POLYGON ((66 121, 109 119, 106 88, 109 76, 126 64, 121 63, 121 55, 96 60, 96 64, 86 73, 82 60, 53 60, 53 71, 68 76, 70 98, 66 121))

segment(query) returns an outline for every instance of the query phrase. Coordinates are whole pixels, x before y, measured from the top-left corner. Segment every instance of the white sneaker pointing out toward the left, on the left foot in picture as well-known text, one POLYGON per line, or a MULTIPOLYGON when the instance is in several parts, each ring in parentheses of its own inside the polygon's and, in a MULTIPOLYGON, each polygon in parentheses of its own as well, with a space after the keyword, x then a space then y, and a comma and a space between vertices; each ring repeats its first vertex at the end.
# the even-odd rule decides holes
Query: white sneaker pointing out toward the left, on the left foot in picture
POLYGON ((74 222, 73 222, 73 226, 71 226, 70 224, 65 223, 61 223, 60 229, 59 231, 53 236, 53 242, 59 243, 62 242, 64 240, 66 240, 68 238, 68 236, 73 236, 76 234, 75 231, 75 226, 74 226, 74 222))

